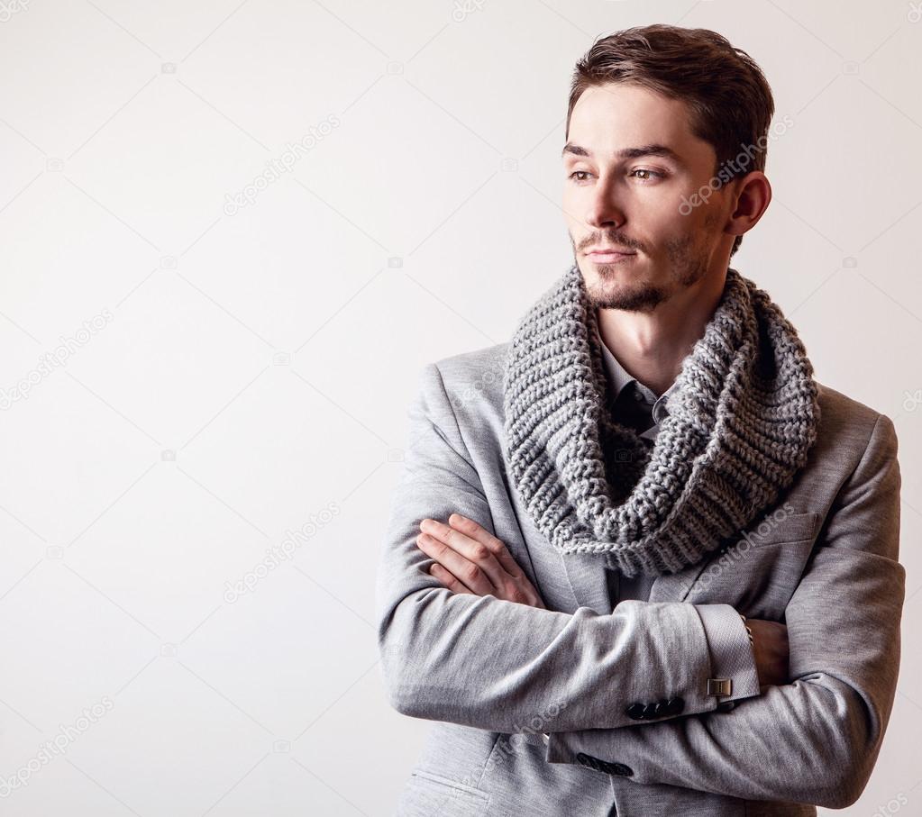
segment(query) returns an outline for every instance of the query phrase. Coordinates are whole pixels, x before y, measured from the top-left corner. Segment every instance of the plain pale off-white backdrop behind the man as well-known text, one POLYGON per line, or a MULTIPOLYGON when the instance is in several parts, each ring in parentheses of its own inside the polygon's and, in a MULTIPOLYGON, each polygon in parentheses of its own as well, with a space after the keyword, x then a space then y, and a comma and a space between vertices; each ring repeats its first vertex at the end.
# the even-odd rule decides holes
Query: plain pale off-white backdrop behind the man
POLYGON ((734 265, 899 434, 903 673, 845 813, 922 813, 920 18, 6 0, 0 811, 393 811, 428 724, 387 706, 372 580, 418 373, 572 260, 573 63, 668 22, 762 64, 792 125, 734 265))

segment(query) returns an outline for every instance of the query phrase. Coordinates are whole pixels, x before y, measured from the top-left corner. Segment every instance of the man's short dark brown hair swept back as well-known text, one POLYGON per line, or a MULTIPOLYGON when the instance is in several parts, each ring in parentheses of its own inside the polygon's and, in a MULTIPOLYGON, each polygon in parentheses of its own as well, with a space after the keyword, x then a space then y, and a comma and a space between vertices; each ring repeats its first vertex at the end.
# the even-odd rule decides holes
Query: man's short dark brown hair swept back
MULTIPOLYGON (((597 40, 573 71, 567 138, 576 100, 586 88, 610 82, 631 83, 685 102, 691 132, 714 146, 714 174, 723 183, 751 170, 764 171, 774 115, 772 89, 751 56, 715 31, 654 25, 597 40), (747 147, 749 161, 736 171, 727 169, 726 163, 747 147)), ((737 236, 730 255, 741 241, 737 236)))

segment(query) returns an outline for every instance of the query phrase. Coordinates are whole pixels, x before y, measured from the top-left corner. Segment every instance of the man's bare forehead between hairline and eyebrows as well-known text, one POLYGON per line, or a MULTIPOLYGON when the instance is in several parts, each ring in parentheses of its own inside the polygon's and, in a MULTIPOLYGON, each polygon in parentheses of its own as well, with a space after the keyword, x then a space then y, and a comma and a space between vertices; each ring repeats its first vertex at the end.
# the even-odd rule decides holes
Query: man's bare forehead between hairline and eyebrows
POLYGON ((586 88, 573 107, 568 141, 595 156, 613 156, 624 147, 659 144, 691 161, 713 157, 714 148, 691 133, 681 99, 627 83, 586 88))

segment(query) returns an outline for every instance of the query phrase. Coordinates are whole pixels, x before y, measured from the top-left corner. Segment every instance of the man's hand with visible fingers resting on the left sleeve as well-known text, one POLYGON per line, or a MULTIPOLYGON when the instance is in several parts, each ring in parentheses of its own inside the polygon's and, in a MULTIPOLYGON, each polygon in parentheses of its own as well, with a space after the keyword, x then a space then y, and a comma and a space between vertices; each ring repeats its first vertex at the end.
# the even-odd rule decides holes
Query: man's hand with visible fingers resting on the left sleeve
POLYGON ((438 563, 430 568, 432 576, 452 592, 547 609, 506 546, 473 519, 456 513, 447 525, 423 519, 420 530, 417 546, 438 563))

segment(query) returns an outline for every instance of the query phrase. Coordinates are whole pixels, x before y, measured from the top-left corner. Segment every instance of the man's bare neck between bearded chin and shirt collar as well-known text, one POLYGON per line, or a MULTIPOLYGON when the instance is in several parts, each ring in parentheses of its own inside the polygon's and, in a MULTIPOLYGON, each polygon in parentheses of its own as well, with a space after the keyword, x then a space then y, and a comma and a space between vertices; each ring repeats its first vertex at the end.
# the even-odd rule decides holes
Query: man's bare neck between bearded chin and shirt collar
POLYGON ((598 333, 621 366, 662 394, 679 376, 682 361, 703 337, 724 291, 726 271, 680 289, 653 312, 597 309, 598 333))

